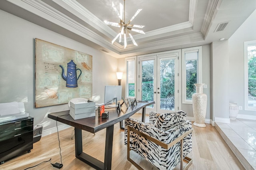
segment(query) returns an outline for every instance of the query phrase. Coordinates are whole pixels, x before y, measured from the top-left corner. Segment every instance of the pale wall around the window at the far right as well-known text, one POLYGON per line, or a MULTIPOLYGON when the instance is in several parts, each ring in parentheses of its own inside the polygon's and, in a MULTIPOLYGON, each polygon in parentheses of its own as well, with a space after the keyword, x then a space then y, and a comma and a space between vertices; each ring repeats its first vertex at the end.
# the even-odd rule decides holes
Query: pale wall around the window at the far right
POLYGON ((229 101, 243 107, 241 115, 254 115, 255 111, 244 111, 244 42, 256 40, 256 10, 229 38, 229 101))

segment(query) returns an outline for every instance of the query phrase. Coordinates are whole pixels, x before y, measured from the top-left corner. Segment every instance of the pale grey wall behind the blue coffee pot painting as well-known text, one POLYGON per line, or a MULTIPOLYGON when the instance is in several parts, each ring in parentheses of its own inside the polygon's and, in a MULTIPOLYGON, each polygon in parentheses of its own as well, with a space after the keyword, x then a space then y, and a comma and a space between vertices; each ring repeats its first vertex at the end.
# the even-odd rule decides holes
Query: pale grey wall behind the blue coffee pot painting
POLYGON ((98 103, 104 102, 105 85, 117 85, 116 58, 2 10, 0 23, 0 103, 24 102, 34 125, 43 125, 43 130, 56 126, 48 113, 68 110, 68 106, 34 108, 35 38, 92 55, 92 93, 98 103))

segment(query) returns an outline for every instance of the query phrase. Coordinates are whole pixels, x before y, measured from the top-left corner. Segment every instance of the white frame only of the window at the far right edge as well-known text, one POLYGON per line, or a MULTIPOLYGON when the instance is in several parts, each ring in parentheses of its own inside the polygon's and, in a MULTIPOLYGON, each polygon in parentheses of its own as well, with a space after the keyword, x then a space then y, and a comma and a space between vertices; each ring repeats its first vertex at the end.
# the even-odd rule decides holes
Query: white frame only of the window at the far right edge
POLYGON ((244 110, 256 111, 256 107, 248 107, 248 46, 256 45, 256 40, 244 42, 244 110))

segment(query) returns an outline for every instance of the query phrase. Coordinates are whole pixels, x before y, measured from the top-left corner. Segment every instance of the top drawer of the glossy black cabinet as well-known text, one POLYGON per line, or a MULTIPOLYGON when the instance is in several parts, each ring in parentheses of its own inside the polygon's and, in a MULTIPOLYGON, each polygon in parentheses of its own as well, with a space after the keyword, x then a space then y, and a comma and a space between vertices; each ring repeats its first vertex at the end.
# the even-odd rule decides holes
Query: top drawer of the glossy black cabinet
POLYGON ((0 123, 0 127, 1 127, 0 133, 11 131, 11 130, 22 128, 22 127, 27 127, 30 125, 33 125, 33 119, 31 118, 20 119, 16 121, 9 121, 6 123, 0 123))

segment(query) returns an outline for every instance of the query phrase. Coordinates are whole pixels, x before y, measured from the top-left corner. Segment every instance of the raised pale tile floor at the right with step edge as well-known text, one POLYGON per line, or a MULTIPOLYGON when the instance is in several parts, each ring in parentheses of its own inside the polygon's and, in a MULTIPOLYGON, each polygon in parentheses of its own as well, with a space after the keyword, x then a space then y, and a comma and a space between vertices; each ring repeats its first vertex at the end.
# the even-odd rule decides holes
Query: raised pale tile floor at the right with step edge
POLYGON ((256 120, 215 122, 215 127, 246 170, 256 170, 256 120))

